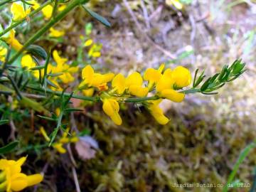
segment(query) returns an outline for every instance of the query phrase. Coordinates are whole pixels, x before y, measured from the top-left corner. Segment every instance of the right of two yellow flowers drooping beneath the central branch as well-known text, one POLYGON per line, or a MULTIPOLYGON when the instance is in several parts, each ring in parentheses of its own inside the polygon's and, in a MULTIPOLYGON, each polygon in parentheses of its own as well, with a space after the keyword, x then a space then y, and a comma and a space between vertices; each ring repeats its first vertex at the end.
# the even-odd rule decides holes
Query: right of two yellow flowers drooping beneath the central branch
POLYGON ((159 124, 167 124, 169 122, 169 119, 164 115, 164 112, 159 107, 159 104, 162 100, 154 100, 149 102, 147 105, 147 108, 151 115, 156 119, 159 124))

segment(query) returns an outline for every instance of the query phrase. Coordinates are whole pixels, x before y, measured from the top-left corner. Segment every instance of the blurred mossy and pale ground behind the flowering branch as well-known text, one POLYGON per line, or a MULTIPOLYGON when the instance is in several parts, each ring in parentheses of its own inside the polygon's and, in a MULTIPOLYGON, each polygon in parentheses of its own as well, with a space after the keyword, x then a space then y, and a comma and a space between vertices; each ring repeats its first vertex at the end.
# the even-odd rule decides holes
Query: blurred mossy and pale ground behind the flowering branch
MULTIPOLYGON (((247 64, 242 77, 220 89, 218 95, 193 94, 186 95, 181 104, 164 102, 161 107, 171 119, 164 126, 144 108, 133 105, 121 106, 123 124, 119 127, 102 115, 100 106, 73 114, 76 126, 87 127, 99 145, 96 151, 75 151, 75 159, 81 159, 76 162, 81 191, 221 191, 177 188, 174 183, 224 184, 242 149, 255 139, 256 2, 179 2, 90 1, 87 6, 107 18, 111 28, 77 9, 57 26, 65 29, 63 41, 38 41, 43 47, 54 44, 66 58, 79 61, 78 47, 90 27, 90 38, 102 44, 100 58, 91 61, 95 68, 126 75, 158 68, 161 63, 170 68, 186 66, 192 74, 199 68, 208 75, 238 58, 247 64)), ((38 23, 21 27, 20 39, 26 28, 40 28, 40 19, 33 19, 38 23)), ((29 118, 20 124, 29 127, 29 118)), ((29 130, 20 132, 32 134, 29 130)), ((39 161, 36 154, 29 154, 31 164, 47 165, 47 169, 37 191, 75 191, 68 154, 53 158, 50 151, 38 153, 39 161)), ((255 163, 254 149, 235 178, 252 186, 255 163)))

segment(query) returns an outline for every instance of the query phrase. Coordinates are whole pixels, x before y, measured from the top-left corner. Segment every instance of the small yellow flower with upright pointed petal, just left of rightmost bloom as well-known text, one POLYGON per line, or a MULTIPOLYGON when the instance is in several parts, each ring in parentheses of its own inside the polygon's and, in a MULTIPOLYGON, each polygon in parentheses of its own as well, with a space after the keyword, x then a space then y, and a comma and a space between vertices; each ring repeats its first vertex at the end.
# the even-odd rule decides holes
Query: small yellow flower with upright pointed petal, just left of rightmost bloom
POLYGON ((149 81, 149 84, 148 84, 149 90, 151 90, 151 88, 154 87, 154 84, 156 82, 159 82, 161 78, 161 73, 163 70, 164 70, 164 64, 161 64, 158 70, 154 68, 146 69, 144 73, 144 80, 149 81))

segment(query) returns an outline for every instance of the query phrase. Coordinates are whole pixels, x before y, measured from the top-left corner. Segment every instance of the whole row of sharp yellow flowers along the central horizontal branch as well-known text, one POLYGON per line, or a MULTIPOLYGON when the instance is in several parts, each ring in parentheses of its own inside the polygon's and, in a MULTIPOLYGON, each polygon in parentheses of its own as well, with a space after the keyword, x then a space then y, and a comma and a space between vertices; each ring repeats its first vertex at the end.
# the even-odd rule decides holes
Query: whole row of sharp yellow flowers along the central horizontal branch
POLYGON ((157 122, 166 124, 169 119, 164 116, 159 103, 162 99, 181 102, 185 94, 177 90, 191 84, 191 73, 182 66, 178 66, 174 70, 170 68, 164 70, 164 67, 162 64, 158 70, 146 69, 143 78, 137 72, 125 78, 121 73, 117 75, 95 73, 93 68, 87 65, 82 69, 82 82, 78 88, 87 96, 92 96, 95 89, 101 91, 102 109, 117 125, 122 124, 122 119, 119 116, 119 102, 132 96, 146 97, 151 92, 151 95, 156 95, 159 100, 145 101, 142 104, 157 122), (107 92, 107 83, 110 81, 112 89, 107 92))

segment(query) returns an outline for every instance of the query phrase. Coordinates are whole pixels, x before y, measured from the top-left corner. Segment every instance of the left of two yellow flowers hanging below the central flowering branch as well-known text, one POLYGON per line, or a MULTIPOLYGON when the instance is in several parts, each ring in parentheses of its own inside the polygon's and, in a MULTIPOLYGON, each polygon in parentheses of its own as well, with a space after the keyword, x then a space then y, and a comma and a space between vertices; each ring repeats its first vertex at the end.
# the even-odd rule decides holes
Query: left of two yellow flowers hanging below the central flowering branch
POLYGON ((118 113, 119 104, 117 100, 105 98, 103 100, 102 109, 105 112, 105 114, 107 114, 115 124, 122 124, 122 119, 118 113))

